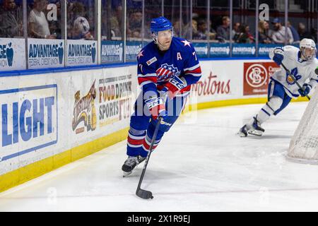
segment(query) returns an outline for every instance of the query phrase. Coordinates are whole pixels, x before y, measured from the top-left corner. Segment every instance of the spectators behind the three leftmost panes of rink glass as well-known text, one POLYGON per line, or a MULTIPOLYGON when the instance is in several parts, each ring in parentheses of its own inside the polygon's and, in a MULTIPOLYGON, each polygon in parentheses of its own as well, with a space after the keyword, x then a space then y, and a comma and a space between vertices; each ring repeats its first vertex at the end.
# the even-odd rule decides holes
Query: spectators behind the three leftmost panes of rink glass
MULTIPOLYGON (((64 38, 61 35, 61 3, 54 1, 53 5, 54 7, 47 0, 30 1, 28 4, 28 37, 64 38), (48 16, 52 9, 56 11, 54 18, 48 16)), ((74 40, 94 40, 94 18, 88 16, 88 12, 92 9, 87 8, 79 1, 68 2, 67 7, 67 37, 74 40)), ((16 0, 3 0, 0 6, 0 37, 23 36, 22 6, 17 6, 16 0)))

